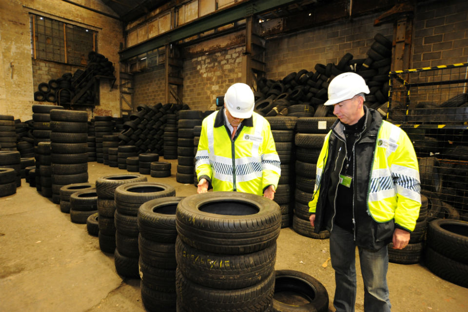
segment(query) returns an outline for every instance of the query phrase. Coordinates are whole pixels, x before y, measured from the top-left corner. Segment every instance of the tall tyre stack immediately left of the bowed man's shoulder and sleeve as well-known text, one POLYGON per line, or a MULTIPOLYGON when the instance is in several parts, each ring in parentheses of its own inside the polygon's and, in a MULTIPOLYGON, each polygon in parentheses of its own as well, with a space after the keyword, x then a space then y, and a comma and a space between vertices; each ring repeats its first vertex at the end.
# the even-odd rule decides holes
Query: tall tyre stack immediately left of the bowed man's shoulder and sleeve
POLYGON ((178 113, 177 123, 177 172, 179 183, 194 182, 194 127, 201 126, 203 113, 183 110, 178 113))

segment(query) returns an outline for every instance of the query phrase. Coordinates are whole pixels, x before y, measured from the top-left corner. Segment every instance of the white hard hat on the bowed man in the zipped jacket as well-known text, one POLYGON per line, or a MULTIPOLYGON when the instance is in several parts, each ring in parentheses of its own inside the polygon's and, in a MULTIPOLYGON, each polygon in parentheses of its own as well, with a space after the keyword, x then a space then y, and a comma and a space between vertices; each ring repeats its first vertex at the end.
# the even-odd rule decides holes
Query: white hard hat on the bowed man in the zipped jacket
POLYGON ((245 83, 234 83, 226 91, 224 103, 234 118, 250 118, 254 111, 254 92, 245 83))

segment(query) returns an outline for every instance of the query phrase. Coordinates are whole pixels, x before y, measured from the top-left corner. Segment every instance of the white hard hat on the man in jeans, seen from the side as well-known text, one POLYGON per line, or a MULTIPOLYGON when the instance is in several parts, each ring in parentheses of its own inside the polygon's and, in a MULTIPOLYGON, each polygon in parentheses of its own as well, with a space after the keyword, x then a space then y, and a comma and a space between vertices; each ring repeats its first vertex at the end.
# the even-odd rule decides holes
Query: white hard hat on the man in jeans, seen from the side
POLYGON ((328 85, 328 101, 323 105, 334 105, 359 93, 368 94, 369 87, 364 78, 356 73, 339 74, 328 85))

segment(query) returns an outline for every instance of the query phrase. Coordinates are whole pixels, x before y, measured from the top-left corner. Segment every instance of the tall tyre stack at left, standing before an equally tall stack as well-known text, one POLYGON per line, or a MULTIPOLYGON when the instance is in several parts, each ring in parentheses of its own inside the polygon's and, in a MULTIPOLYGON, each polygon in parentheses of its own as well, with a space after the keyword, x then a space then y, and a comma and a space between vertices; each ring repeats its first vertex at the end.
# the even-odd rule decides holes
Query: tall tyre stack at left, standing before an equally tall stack
POLYGON ((52 201, 64 185, 88 182, 88 113, 51 110, 52 201))

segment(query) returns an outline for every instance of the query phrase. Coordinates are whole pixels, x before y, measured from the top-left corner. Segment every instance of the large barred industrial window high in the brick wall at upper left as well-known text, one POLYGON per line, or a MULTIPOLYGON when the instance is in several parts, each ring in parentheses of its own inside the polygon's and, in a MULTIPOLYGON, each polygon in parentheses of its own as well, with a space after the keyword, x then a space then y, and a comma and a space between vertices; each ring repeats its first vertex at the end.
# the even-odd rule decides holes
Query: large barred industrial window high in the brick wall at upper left
POLYGON ((88 53, 96 51, 96 31, 36 14, 29 21, 33 59, 86 66, 88 53))

